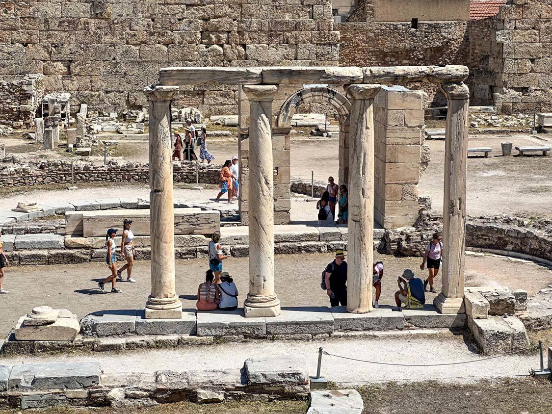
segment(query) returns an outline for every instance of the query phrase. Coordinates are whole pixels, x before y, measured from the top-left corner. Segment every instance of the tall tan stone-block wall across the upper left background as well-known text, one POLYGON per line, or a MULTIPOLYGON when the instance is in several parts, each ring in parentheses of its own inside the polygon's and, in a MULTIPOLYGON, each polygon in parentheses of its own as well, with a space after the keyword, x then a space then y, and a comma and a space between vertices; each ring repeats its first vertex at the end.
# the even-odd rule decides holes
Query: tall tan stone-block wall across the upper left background
MULTIPOLYGON (((6 3, 0 78, 44 73, 46 91, 71 92, 73 113, 146 105, 167 66, 337 66, 331 0, 6 3), (16 5, 17 4, 17 5, 16 5)), ((182 87, 174 105, 235 114, 236 88, 182 87)))

